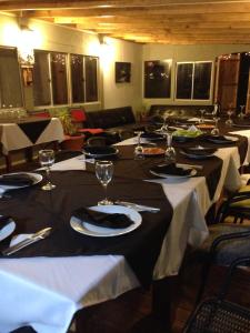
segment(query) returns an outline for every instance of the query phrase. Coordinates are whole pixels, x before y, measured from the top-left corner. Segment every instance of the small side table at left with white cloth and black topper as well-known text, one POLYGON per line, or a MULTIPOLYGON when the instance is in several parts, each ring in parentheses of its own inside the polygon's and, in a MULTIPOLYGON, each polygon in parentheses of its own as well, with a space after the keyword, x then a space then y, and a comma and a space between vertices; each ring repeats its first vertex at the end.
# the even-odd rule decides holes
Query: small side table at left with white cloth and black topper
POLYGON ((63 128, 59 118, 29 115, 0 119, 0 145, 8 172, 11 170, 11 152, 24 149, 27 155, 30 155, 34 145, 63 140, 63 128))

